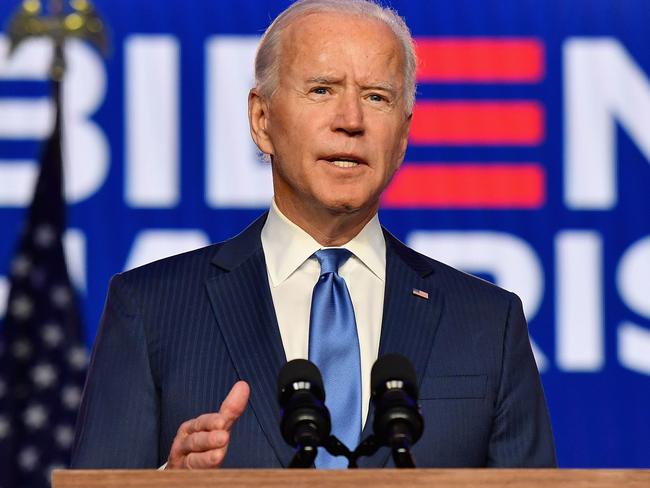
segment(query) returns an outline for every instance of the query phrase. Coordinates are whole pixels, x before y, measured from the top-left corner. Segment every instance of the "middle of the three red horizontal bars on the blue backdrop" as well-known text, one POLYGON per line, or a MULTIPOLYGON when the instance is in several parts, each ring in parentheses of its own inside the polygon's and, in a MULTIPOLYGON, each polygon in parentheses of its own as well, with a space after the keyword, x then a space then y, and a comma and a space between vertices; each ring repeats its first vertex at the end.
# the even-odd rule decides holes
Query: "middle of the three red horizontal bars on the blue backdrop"
POLYGON ((413 111, 413 144, 534 146, 543 140, 544 107, 537 102, 425 101, 413 111))

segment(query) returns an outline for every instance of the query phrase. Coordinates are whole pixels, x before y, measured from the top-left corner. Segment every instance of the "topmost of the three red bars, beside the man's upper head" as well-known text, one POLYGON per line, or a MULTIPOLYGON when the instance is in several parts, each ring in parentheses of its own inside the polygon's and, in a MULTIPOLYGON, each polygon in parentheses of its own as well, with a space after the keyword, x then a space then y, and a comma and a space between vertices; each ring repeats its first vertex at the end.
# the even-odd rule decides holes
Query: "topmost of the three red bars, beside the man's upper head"
POLYGON ((535 38, 416 39, 422 82, 537 83, 544 44, 535 38))

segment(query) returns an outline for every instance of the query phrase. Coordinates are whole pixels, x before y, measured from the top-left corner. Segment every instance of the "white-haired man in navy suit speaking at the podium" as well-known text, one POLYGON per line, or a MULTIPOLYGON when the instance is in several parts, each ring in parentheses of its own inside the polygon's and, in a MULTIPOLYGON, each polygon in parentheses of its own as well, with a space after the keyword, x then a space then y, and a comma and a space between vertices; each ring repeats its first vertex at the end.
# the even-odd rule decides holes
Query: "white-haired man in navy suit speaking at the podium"
MULTIPOLYGON (((112 280, 73 466, 286 466, 275 380, 294 358, 323 371, 334 433, 354 449, 371 430, 370 368, 389 352, 417 370, 420 466, 553 466, 519 299, 378 222, 415 93, 401 18, 365 0, 296 2, 255 71, 271 209, 229 241, 112 280)), ((387 449, 361 461, 389 464, 387 449)))

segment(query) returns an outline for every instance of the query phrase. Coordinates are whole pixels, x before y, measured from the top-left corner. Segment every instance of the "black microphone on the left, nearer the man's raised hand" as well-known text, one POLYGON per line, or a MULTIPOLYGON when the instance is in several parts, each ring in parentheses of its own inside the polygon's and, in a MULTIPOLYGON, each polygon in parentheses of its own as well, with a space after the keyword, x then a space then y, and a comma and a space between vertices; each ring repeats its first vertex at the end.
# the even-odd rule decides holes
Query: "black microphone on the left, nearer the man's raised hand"
POLYGON ((282 437, 296 448, 289 467, 311 467, 317 447, 325 445, 332 428, 323 378, 316 365, 306 359, 285 364, 278 375, 278 400, 282 437))

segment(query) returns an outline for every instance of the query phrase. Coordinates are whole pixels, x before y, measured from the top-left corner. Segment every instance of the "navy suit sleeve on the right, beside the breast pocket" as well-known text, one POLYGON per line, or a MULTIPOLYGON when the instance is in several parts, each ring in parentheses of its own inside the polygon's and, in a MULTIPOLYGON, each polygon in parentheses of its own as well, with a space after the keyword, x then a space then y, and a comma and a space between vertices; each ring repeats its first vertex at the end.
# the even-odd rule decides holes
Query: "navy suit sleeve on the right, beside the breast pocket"
POLYGON ((521 300, 512 295, 488 466, 555 467, 555 445, 544 391, 530 347, 521 300))

